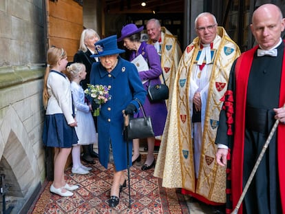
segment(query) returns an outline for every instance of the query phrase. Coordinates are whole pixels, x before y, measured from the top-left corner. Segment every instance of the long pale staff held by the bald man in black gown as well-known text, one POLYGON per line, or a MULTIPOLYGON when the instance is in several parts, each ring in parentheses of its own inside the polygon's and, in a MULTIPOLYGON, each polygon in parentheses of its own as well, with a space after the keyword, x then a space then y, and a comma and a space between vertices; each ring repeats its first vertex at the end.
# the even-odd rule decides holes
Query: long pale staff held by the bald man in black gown
MULTIPOLYGON (((284 106, 285 107, 285 104, 284 106)), ((260 152, 260 156, 258 156, 257 161, 255 162, 255 165, 253 167, 253 171, 251 171, 251 175, 249 175, 249 180, 247 180, 246 185, 244 186, 244 190, 242 191, 242 195, 240 195, 240 200, 238 200, 237 205, 235 206, 235 209, 233 210, 233 212, 231 212, 231 214, 236 214, 238 209, 240 208, 240 205, 242 204, 242 200, 244 200, 244 196, 246 195, 247 190, 249 189, 249 185, 251 184, 251 181, 253 180, 253 176, 255 175, 255 172, 257 171, 257 167, 260 165, 260 162, 264 156, 264 153, 269 145, 269 142, 271 141, 273 134, 275 133, 277 126, 279 124, 279 120, 276 120, 270 133, 268 138, 266 139, 266 142, 262 148, 262 151, 260 152)))

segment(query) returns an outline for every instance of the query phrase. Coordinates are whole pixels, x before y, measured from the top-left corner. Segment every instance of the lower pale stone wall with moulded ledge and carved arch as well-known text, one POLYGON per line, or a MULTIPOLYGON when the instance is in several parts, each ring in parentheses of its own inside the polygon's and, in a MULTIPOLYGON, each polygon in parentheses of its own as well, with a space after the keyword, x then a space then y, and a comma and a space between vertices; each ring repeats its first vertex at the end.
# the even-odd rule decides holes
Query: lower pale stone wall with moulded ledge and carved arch
POLYGON ((41 65, 0 67, 0 174, 5 175, 1 187, 6 207, 14 207, 12 213, 32 202, 45 180, 41 140, 44 70, 41 65))

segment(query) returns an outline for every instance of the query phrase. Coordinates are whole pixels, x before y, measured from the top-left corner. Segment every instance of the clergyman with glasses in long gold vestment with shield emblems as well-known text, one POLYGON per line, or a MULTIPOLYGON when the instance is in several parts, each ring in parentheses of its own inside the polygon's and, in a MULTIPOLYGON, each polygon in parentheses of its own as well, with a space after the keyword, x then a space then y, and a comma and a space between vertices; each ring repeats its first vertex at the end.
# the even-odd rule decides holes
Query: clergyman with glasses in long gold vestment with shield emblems
POLYGON ((209 12, 195 21, 198 37, 180 59, 154 175, 162 186, 207 204, 226 202, 226 169, 215 162, 221 98, 239 47, 209 12))

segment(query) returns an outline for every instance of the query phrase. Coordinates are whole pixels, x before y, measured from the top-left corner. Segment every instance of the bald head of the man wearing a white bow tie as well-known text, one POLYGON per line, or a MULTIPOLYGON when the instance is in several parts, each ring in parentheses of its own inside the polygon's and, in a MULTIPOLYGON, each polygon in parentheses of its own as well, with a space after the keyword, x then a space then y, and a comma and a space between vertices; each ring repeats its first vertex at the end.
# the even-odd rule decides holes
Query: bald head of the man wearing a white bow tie
POLYGON ((264 50, 270 50, 279 43, 284 26, 281 10, 272 3, 266 3, 253 12, 251 32, 264 50))

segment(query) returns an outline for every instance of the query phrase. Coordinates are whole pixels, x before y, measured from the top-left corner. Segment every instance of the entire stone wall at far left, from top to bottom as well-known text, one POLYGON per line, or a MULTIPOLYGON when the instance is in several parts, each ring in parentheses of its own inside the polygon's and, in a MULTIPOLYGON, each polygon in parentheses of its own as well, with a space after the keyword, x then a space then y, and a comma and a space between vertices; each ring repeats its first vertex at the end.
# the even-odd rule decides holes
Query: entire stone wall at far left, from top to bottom
POLYGON ((26 213, 45 180, 45 0, 1 0, 0 29, 0 213, 26 213))

